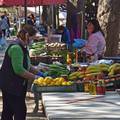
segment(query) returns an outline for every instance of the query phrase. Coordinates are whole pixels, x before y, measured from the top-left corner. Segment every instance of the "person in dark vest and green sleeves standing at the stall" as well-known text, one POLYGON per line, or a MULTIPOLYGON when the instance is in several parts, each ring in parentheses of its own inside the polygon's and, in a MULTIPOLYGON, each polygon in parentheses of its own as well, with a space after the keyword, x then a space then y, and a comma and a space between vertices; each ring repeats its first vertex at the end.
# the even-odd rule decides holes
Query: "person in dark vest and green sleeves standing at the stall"
POLYGON ((37 31, 33 26, 24 25, 18 38, 11 43, 0 70, 3 110, 1 120, 26 120, 25 97, 28 82, 38 78, 39 70, 30 64, 27 46, 37 31))

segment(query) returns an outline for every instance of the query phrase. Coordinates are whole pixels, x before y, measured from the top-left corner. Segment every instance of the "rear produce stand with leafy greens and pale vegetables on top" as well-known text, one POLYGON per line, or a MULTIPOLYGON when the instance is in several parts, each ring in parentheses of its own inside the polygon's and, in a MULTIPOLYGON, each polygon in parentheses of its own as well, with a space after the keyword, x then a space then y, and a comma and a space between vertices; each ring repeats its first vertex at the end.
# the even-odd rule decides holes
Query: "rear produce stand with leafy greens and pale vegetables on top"
POLYGON ((64 43, 47 43, 45 41, 33 43, 30 46, 30 58, 33 65, 39 62, 52 64, 54 61, 66 62, 66 45, 64 43))

